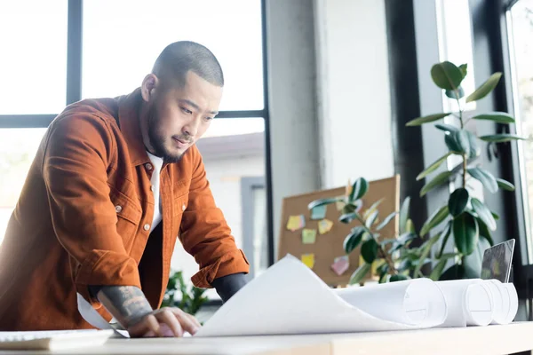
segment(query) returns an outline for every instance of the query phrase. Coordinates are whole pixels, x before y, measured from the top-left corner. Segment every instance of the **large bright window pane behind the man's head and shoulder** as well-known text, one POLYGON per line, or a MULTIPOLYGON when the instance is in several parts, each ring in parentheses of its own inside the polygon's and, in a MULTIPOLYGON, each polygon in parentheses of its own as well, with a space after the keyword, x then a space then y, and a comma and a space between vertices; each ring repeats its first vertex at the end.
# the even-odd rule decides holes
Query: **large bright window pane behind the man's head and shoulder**
POLYGON ((167 44, 191 40, 224 69, 220 110, 263 108, 259 0, 85 1, 83 33, 84 98, 133 91, 167 44))

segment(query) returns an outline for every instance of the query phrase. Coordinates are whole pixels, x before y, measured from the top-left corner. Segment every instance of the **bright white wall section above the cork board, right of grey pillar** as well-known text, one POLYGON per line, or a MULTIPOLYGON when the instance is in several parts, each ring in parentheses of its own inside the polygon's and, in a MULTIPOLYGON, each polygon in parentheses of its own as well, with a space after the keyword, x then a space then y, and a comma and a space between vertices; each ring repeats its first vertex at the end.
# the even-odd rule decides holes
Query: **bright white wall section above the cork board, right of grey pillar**
POLYGON ((315 0, 322 187, 394 175, 384 0, 315 0))

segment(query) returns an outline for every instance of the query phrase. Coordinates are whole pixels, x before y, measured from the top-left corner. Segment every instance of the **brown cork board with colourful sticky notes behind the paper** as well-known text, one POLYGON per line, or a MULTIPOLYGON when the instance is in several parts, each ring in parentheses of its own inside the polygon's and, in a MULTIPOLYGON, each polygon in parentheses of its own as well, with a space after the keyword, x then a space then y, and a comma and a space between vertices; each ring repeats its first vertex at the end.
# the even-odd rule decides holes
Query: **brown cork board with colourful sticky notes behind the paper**
MULTIPOLYGON (((304 243, 302 238, 303 229, 311 229, 318 231, 319 220, 311 219, 311 210, 307 209, 307 205, 317 199, 330 198, 344 195, 346 187, 338 187, 329 190, 317 191, 314 193, 305 193, 295 196, 289 196, 282 201, 282 225, 280 232, 280 241, 278 245, 278 260, 287 254, 301 258, 303 255, 314 255, 314 265, 312 267, 318 277, 320 277, 326 284, 331 287, 345 286, 350 280, 350 276, 359 266, 359 248, 357 247, 349 255, 349 267, 346 272, 340 276, 333 271, 331 265, 334 259, 338 256, 346 256, 343 248, 343 242, 352 228, 355 225, 361 225, 357 220, 344 224, 338 221, 342 211, 338 210, 335 203, 329 204, 325 211, 325 218, 333 222, 333 225, 327 233, 316 233, 314 242, 304 243), (287 229, 287 223, 291 216, 303 215, 303 228, 296 231, 287 229)), ((378 206, 379 221, 394 211, 400 210, 400 176, 389 177, 381 180, 369 182, 369 190, 362 199, 363 205, 360 210, 362 215, 366 209, 380 200, 384 199, 378 206)), ((340 207, 340 206, 339 206, 340 207)), ((398 216, 380 231, 380 238, 394 238, 398 233, 398 216)), ((365 280, 372 279, 373 276, 369 272, 365 280)))

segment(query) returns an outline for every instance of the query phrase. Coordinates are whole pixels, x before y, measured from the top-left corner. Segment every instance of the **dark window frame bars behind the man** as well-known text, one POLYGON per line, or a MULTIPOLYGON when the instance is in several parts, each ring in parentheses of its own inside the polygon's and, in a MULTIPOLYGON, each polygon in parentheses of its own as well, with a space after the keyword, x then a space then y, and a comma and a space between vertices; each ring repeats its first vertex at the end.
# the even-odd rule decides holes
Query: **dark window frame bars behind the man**
MULTIPOLYGON (((82 98, 82 49, 84 0, 68 0, 68 40, 67 40, 67 95, 66 105, 82 98)), ((268 75, 267 75, 267 13, 266 0, 261 0, 261 48, 263 74, 263 109, 220 111, 217 118, 260 117, 265 122, 265 183, 267 187, 267 248, 268 264, 274 264, 274 228, 272 197, 272 164, 270 151, 270 113, 268 109, 268 75)), ((57 114, 0 114, 0 129, 47 128, 57 114)), ((250 236, 252 237, 252 236, 250 236)), ((243 240, 247 236, 243 235, 243 240)))

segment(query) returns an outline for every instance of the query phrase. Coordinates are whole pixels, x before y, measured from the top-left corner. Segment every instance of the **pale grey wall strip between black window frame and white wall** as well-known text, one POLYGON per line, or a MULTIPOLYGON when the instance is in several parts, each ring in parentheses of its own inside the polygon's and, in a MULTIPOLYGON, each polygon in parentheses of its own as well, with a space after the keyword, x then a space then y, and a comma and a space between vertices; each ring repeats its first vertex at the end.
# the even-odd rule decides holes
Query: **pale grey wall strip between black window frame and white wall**
POLYGON ((320 186, 312 0, 267 1, 274 250, 282 198, 320 186))

